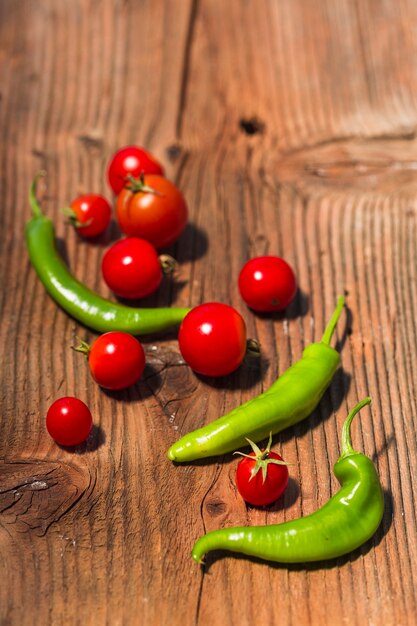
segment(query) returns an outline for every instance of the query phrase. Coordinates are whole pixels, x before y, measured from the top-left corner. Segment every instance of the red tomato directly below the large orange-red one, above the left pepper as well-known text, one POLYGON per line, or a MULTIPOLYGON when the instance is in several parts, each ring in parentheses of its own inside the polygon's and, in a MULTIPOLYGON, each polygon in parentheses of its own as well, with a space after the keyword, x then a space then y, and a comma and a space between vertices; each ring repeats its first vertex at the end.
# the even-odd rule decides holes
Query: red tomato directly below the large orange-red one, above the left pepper
POLYGON ((154 246, 139 237, 127 237, 111 246, 101 269, 106 284, 122 298, 144 298, 156 291, 162 280, 154 246))

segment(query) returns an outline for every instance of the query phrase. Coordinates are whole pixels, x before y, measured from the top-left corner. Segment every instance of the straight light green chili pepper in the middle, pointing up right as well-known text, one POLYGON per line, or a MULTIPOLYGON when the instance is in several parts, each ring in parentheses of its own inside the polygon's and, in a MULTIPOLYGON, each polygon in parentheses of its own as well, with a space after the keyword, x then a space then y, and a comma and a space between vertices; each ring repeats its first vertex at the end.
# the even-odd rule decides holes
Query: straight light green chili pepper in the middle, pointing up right
POLYGON ((340 296, 321 342, 312 343, 302 358, 287 369, 261 395, 245 402, 211 424, 184 435, 168 450, 168 458, 180 463, 225 454, 261 441, 303 420, 316 408, 339 363, 330 340, 344 306, 340 296))

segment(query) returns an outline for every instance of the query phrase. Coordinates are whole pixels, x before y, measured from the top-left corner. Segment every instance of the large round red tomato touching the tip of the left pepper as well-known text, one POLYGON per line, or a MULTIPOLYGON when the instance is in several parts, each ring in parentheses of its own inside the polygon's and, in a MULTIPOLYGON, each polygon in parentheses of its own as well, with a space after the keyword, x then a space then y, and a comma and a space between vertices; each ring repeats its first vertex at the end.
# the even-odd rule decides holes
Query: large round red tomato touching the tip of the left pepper
POLYGON ((243 361, 246 325, 240 313, 227 304, 200 304, 183 319, 178 343, 184 360, 194 371, 225 376, 243 361))

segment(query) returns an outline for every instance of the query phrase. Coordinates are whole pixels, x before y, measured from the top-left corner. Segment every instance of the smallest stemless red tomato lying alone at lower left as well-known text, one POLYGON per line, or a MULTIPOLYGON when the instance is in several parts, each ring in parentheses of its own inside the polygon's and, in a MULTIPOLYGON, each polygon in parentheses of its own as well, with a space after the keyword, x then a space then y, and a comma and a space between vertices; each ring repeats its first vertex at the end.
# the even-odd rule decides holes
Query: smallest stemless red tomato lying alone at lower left
POLYGON ((61 446, 75 446, 85 441, 92 427, 90 409, 78 398, 59 398, 48 409, 46 428, 61 446))

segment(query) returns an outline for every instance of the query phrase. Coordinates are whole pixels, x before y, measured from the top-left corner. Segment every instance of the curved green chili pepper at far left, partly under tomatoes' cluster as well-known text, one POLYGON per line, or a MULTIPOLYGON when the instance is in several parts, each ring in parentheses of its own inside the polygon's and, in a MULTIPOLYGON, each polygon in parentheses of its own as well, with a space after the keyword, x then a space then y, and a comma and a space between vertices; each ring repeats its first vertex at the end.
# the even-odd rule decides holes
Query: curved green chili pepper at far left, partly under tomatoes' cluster
POLYGON ((70 273, 55 246, 54 226, 41 211, 34 179, 29 202, 33 217, 26 224, 29 258, 49 295, 72 317, 98 332, 120 330, 134 335, 158 332, 180 324, 190 309, 139 309, 110 302, 70 273))

